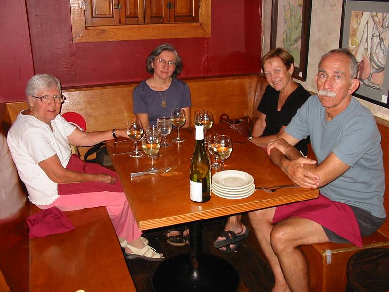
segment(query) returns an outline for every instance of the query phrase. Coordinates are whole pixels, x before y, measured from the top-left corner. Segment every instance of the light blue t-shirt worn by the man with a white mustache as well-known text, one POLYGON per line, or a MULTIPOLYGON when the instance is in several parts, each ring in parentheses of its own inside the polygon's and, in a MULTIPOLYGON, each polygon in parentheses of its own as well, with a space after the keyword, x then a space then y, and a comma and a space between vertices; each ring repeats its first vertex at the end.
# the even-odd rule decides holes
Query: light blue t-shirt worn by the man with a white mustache
POLYGON ((346 203, 385 217, 381 135, 374 116, 354 98, 345 110, 327 121, 318 96, 311 96, 285 128, 296 139, 311 137, 320 164, 331 152, 350 168, 320 189, 332 201, 346 203))

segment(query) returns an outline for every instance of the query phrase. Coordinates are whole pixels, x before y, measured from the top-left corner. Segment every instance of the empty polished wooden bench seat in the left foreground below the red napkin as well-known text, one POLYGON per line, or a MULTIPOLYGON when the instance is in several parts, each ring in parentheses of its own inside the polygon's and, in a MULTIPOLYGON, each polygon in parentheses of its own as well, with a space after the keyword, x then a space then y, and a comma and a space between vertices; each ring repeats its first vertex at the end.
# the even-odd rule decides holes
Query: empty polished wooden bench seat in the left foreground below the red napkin
POLYGON ((65 214, 74 230, 30 240, 30 291, 136 291, 106 207, 65 214))

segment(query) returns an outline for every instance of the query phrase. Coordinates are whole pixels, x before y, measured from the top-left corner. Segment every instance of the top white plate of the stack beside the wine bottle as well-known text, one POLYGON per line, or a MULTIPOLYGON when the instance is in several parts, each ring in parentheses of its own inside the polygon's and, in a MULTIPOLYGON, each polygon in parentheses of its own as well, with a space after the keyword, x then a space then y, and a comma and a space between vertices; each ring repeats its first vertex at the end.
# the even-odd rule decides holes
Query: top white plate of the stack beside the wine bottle
POLYGON ((224 170, 212 176, 212 183, 228 190, 244 189, 254 183, 254 178, 247 172, 240 170, 224 170))

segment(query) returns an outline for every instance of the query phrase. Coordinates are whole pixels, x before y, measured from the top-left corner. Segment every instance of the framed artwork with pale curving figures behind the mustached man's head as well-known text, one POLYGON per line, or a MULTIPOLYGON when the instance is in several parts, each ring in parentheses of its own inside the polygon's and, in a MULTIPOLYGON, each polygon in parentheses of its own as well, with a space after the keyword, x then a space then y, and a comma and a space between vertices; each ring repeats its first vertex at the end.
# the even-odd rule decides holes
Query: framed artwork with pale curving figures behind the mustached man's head
POLYGON ((389 1, 343 0, 340 47, 358 61, 354 96, 389 108, 389 1))

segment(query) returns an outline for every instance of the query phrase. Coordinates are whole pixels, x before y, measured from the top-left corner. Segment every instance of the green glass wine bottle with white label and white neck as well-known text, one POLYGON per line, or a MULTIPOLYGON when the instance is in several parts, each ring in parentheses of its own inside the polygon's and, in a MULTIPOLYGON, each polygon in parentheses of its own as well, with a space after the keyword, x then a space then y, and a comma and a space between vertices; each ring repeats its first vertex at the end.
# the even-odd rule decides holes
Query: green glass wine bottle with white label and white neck
POLYGON ((204 203, 211 198, 211 166, 204 146, 204 125, 196 123, 196 147, 189 171, 190 198, 204 203))

